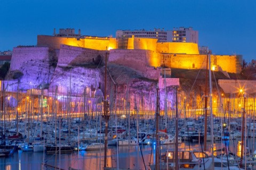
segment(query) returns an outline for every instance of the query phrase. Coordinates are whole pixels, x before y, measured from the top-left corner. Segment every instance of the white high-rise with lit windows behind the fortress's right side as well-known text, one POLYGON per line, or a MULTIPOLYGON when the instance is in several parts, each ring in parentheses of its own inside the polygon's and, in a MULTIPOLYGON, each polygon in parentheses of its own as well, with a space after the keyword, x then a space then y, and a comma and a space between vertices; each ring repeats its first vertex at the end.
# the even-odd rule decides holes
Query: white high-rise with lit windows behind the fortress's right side
POLYGON ((198 31, 193 30, 192 27, 173 28, 172 31, 167 31, 167 41, 198 44, 198 31))

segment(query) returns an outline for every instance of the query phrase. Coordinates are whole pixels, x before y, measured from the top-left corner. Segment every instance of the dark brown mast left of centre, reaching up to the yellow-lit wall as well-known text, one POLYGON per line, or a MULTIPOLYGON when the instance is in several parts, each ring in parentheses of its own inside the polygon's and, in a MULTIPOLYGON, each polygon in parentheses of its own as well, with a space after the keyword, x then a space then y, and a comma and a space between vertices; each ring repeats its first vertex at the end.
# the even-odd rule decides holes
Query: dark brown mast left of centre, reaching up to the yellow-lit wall
POLYGON ((107 113, 107 47, 106 47, 106 55, 105 55, 105 90, 104 90, 104 115, 105 118, 105 144, 104 144, 104 168, 107 167, 107 149, 108 149, 108 120, 109 115, 107 113))

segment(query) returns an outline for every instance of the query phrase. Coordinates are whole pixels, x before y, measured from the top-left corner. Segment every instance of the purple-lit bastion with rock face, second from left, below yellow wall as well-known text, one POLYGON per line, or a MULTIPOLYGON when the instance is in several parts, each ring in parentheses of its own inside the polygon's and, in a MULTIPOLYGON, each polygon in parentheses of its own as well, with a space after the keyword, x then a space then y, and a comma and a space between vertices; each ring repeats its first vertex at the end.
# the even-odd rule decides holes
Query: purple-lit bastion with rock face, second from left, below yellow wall
POLYGON ((73 94, 82 94, 86 87, 97 88, 103 78, 100 69, 96 69, 98 64, 93 65, 93 61, 98 55, 102 59, 105 58, 105 54, 106 50, 60 45, 58 64, 50 83, 50 91, 54 92, 55 86, 58 86, 60 94, 67 94, 70 80, 73 94))

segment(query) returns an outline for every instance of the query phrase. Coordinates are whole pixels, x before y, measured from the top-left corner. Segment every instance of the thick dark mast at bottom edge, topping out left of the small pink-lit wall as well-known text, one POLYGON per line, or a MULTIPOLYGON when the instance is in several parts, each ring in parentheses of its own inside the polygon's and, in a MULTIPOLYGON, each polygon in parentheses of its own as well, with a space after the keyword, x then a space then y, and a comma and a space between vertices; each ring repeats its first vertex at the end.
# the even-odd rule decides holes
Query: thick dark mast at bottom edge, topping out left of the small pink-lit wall
POLYGON ((159 137, 158 137, 158 125, 159 125, 159 88, 157 84, 156 88, 156 170, 160 169, 160 164, 159 164, 159 137))

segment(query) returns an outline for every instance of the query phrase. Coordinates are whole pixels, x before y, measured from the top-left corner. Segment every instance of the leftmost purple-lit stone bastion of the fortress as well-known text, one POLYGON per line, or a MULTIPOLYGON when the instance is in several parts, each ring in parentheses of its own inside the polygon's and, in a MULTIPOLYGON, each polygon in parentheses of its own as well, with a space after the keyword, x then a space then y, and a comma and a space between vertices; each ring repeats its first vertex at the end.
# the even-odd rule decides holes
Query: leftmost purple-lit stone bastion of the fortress
POLYGON ((54 68, 50 60, 54 56, 48 47, 13 48, 10 70, 7 79, 11 80, 15 72, 21 72, 20 89, 30 89, 40 84, 48 84, 54 68))

